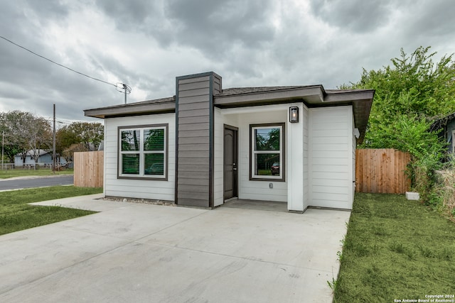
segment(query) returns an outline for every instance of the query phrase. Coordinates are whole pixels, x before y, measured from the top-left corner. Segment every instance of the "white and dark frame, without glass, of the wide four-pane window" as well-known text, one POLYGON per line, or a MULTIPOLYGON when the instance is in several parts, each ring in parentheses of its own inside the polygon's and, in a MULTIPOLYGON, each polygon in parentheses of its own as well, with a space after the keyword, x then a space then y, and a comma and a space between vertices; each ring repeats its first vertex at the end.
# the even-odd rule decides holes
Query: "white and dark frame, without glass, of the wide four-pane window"
POLYGON ((164 180, 168 179, 168 124, 153 124, 146 126, 119 126, 118 132, 118 179, 146 179, 146 180, 164 180), (164 129, 164 150, 144 150, 144 131, 164 129), (122 150, 122 131, 139 131, 139 150, 122 150), (146 154, 164 154, 163 175, 146 175, 145 172, 145 155, 146 154), (139 174, 123 174, 123 158, 125 154, 139 154, 139 174))

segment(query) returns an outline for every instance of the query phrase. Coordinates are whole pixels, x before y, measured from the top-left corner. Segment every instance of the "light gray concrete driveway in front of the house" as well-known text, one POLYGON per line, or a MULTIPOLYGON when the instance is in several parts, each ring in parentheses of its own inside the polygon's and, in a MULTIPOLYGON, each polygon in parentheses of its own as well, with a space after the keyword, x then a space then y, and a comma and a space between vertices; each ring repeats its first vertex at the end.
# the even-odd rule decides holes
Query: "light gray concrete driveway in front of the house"
POLYGON ((0 236, 0 302, 332 302, 348 211, 97 200, 98 214, 0 236))

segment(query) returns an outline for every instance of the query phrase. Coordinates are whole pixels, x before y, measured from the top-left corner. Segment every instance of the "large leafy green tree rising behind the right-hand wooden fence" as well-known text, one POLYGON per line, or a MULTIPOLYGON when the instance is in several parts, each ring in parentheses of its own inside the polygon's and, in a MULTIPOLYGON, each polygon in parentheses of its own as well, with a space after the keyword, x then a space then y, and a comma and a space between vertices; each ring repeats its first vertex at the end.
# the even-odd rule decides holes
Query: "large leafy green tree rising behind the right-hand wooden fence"
POLYGON ((345 89, 375 89, 363 148, 396 148, 417 158, 441 153, 437 135, 429 125, 455 111, 453 55, 437 64, 430 47, 419 47, 410 56, 401 49, 392 66, 363 70, 358 83, 345 89))

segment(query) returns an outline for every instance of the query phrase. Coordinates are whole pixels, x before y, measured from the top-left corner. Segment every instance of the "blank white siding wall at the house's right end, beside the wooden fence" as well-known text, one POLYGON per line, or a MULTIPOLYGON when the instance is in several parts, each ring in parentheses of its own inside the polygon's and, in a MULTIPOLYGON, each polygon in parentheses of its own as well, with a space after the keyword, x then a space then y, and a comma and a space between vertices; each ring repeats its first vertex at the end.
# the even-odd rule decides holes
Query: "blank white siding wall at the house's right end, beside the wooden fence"
POLYGON ((309 111, 310 205, 352 209, 352 106, 309 111))

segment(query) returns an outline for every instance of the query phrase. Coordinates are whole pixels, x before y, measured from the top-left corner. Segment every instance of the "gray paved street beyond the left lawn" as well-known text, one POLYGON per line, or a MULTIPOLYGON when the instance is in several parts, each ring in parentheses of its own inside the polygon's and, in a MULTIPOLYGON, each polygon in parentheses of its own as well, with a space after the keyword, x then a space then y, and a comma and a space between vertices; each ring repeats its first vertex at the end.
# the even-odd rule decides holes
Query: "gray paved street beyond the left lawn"
POLYGON ((74 183, 73 175, 58 175, 50 177, 11 178, 0 180, 0 191, 9 189, 47 187, 55 185, 71 185, 74 183))

